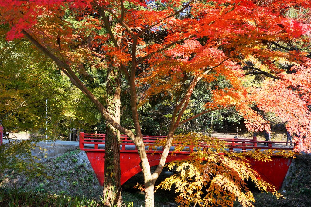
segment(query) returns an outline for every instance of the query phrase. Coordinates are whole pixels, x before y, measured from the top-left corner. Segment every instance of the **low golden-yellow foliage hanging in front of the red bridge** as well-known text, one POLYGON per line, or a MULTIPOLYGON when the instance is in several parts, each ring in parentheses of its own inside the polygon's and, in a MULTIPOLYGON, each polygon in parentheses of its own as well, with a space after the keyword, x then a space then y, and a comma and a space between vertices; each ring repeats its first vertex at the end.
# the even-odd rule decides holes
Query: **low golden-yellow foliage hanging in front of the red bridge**
MULTIPOLYGON (((159 140, 156 146, 162 144, 159 140)), ((169 170, 177 173, 165 178, 156 189, 172 190, 174 186, 179 194, 175 200, 180 206, 233 206, 236 200, 242 206, 254 206, 255 200, 247 181, 255 183, 260 191, 270 191, 280 198, 282 195, 260 178, 245 156, 266 162, 271 161, 271 156, 295 155, 295 152, 284 150, 228 151, 224 141, 196 133, 177 135, 172 145, 176 146, 173 153, 189 146, 194 150, 187 160, 167 164, 169 170)))

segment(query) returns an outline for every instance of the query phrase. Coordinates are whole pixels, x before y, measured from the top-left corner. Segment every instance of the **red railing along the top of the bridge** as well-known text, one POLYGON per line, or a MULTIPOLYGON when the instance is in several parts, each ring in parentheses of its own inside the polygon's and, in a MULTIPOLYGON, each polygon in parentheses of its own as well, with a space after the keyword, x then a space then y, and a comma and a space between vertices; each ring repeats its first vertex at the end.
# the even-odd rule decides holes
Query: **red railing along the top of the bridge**
MULTIPOLYGON (((84 151, 105 151, 105 134, 85 134, 84 132, 80 132, 79 139, 79 147, 84 151)), ((162 151, 161 147, 150 150, 150 147, 155 146, 155 142, 158 139, 165 139, 166 136, 149 136, 143 135, 143 141, 145 146, 148 146, 149 151, 154 152, 162 151)), ((293 148, 285 146, 283 144, 289 144, 290 142, 279 142, 279 141, 257 141, 257 137, 253 137, 253 139, 236 139, 236 138, 216 138, 222 141, 225 141, 226 147, 229 150, 247 150, 247 149, 287 149, 292 150, 293 148), (258 143, 263 144, 267 143, 267 146, 258 146, 258 143)), ((172 146, 174 147, 174 146, 172 146)), ((179 153, 189 153, 192 152, 195 148, 199 147, 208 147, 207 144, 202 143, 202 145, 198 146, 189 146, 185 149, 184 152, 179 153)), ((120 151, 121 152, 133 152, 136 151, 137 148, 132 140, 127 136, 122 134, 120 136, 120 151)), ((173 150, 173 149, 172 149, 173 150)))

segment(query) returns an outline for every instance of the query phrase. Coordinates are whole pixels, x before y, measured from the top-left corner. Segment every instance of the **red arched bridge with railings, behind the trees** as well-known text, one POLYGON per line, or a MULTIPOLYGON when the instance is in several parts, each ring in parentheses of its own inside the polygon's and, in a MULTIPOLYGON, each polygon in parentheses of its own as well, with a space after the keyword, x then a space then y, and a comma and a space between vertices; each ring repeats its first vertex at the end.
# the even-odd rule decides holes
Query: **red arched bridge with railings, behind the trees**
MULTIPOLYGON (((164 139, 165 136, 143 136, 146 146, 146 152, 150 166, 156 166, 159 164, 161 153, 163 151, 161 147, 155 151, 148 150, 148 146, 152 146, 157 139, 164 139)), ((257 141, 256 137, 253 139, 231 139, 231 138, 217 138, 226 141, 228 150, 248 150, 248 149, 292 149, 287 148, 284 144, 286 142, 265 142, 257 141), (268 143, 267 147, 259 147, 258 143, 268 143)), ((79 147, 81 150, 86 151, 86 155, 93 167, 93 170, 98 178, 100 185, 104 182, 104 157, 105 157, 105 134, 84 134, 80 133, 79 147)), ((261 145, 260 144, 260 145, 261 145)), ((121 135, 120 143, 120 167, 121 167, 121 184, 125 183, 129 178, 139 173, 140 157, 137 149, 132 140, 126 135, 121 135)), ((171 147, 174 150, 174 147, 171 147)), ((174 160, 183 160, 188 157, 192 152, 192 148, 188 151, 175 152, 173 155, 169 155, 166 162, 174 160)), ((248 158, 254 170, 258 172, 262 179, 274 185, 277 189, 282 187, 284 178, 291 163, 291 158, 284 158, 280 156, 271 157, 272 161, 254 161, 252 158, 248 158)))

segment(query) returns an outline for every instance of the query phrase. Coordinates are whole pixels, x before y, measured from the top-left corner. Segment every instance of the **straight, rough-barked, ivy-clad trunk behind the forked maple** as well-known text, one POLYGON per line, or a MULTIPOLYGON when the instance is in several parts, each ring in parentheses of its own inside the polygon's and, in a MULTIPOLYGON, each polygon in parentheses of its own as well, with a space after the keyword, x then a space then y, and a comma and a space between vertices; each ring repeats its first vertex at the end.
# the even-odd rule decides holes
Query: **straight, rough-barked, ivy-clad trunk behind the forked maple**
MULTIPOLYGON (((107 112, 120 123, 121 74, 107 69, 107 112)), ((121 207, 120 132, 107 122, 105 141, 104 198, 106 206, 121 207)))

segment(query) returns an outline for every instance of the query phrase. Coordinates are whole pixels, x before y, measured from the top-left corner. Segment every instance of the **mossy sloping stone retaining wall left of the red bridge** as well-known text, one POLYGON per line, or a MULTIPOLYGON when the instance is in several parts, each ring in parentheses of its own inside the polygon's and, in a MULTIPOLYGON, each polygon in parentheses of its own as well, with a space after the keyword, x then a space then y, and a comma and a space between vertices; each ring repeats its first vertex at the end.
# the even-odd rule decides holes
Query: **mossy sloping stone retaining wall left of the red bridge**
POLYGON ((34 178, 8 172, 1 186, 38 192, 68 193, 72 196, 96 197, 102 193, 86 153, 80 149, 49 158, 42 164, 42 174, 34 178), (46 174, 46 175, 44 175, 46 174))

